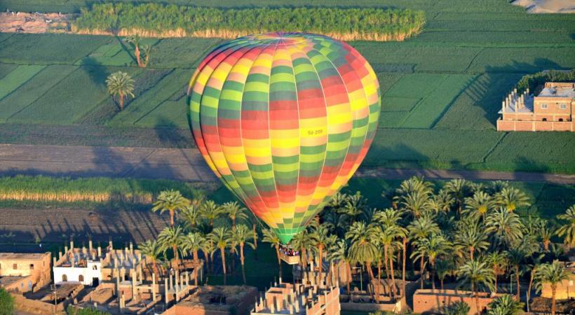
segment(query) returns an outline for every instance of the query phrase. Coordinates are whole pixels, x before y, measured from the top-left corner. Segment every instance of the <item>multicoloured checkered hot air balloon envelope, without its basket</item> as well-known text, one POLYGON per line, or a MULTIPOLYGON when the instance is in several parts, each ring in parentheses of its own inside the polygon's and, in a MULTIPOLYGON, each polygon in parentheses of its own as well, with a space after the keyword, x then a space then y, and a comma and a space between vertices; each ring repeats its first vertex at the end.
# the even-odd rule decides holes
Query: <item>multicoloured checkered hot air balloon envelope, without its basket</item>
POLYGON ((203 158, 283 244, 356 172, 381 110, 365 58, 344 42, 307 33, 219 45, 199 64, 188 95, 203 158))

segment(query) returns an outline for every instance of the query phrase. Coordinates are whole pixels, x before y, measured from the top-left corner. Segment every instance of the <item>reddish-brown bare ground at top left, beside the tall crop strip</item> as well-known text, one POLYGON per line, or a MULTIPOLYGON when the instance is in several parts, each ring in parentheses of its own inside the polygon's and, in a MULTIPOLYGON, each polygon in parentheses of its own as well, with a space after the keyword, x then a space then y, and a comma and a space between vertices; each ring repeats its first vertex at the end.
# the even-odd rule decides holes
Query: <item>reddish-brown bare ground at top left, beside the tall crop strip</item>
POLYGON ((0 31, 46 33, 69 31, 69 16, 60 13, 0 13, 0 31))

